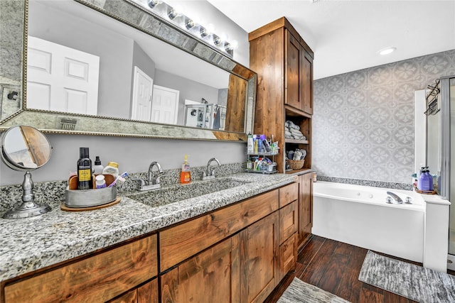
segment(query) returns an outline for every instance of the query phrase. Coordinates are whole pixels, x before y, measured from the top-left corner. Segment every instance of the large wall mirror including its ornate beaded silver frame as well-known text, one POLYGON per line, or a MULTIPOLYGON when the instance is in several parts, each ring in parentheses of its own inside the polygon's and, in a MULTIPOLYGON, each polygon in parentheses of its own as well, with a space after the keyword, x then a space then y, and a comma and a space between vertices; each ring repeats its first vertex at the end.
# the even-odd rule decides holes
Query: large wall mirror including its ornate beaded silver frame
POLYGON ((227 141, 252 131, 255 72, 141 5, 0 5, 16 23, 2 18, 0 48, 18 61, 0 70, 0 128, 227 141))

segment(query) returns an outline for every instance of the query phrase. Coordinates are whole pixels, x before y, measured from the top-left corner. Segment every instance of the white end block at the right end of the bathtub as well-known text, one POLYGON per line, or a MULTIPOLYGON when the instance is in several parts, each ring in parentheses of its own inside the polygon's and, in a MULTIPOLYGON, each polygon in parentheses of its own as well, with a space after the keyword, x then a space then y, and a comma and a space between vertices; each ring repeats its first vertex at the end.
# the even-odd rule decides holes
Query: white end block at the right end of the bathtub
POLYGON ((450 202, 437 195, 422 194, 425 200, 424 267, 447 272, 450 202))

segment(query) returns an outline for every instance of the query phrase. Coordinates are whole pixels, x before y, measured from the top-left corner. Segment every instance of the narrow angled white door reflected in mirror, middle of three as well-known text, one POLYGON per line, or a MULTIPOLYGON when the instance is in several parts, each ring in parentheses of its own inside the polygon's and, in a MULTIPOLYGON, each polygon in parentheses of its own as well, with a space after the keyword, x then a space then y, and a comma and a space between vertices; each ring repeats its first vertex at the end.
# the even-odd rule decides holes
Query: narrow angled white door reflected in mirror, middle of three
POLYGON ((139 67, 134 67, 134 87, 131 119, 150 121, 151 90, 154 80, 139 67))

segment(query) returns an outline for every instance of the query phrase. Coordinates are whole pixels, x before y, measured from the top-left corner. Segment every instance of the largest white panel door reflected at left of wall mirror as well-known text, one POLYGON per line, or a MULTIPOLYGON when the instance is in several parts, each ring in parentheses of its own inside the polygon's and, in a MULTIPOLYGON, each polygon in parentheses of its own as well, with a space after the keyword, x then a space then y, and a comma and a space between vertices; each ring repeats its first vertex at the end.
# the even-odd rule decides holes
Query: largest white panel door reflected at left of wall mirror
POLYGON ((97 114, 100 57, 28 36, 27 107, 97 114))

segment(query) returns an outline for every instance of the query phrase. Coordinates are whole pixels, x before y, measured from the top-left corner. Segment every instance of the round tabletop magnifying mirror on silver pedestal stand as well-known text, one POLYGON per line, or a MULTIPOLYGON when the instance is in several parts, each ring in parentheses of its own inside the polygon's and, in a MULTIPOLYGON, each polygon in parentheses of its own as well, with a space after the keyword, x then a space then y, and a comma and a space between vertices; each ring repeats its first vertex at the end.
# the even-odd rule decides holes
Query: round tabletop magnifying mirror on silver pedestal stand
POLYGON ((31 126, 13 126, 1 136, 1 159, 13 170, 25 171, 22 183, 22 203, 6 211, 4 219, 26 218, 50 211, 47 204, 33 202, 33 181, 30 170, 45 165, 52 147, 41 131, 31 126))

